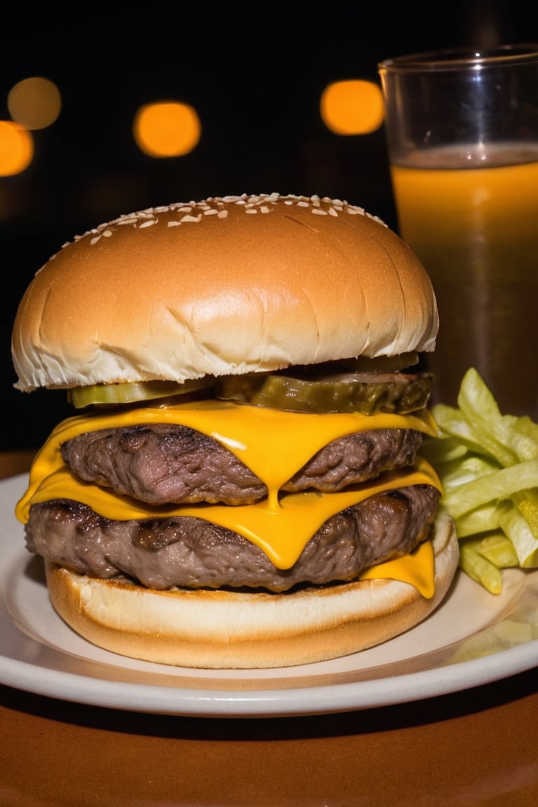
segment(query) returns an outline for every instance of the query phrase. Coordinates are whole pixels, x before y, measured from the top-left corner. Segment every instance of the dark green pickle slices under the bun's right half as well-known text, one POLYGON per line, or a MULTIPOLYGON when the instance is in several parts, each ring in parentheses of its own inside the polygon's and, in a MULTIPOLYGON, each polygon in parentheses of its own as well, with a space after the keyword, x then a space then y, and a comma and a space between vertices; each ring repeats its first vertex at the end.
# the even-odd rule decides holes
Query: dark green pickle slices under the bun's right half
POLYGON ((342 373, 321 378, 250 374, 219 379, 216 395, 227 400, 291 412, 406 414, 426 406, 432 376, 402 373, 342 373))

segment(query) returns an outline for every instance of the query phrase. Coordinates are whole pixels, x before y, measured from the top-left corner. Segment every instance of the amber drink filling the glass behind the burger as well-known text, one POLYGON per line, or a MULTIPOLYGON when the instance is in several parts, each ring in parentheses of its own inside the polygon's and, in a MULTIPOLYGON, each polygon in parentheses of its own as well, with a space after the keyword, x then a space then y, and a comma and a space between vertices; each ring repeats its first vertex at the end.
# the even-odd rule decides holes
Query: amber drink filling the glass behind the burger
POLYGON ((538 416, 538 143, 488 157, 488 167, 451 168, 440 148, 393 165, 399 229, 436 289, 436 398, 455 403, 474 366, 504 411, 538 416))

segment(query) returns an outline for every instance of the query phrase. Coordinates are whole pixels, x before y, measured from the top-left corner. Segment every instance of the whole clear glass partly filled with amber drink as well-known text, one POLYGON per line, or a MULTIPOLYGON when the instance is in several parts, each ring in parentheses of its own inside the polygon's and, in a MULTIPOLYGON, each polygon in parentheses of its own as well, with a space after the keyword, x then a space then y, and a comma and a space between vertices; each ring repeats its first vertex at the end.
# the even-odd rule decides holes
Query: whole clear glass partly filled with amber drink
POLYGON ((430 274, 440 312, 434 400, 456 405, 473 366, 503 412, 538 420, 532 48, 401 57, 380 74, 398 229, 430 274))

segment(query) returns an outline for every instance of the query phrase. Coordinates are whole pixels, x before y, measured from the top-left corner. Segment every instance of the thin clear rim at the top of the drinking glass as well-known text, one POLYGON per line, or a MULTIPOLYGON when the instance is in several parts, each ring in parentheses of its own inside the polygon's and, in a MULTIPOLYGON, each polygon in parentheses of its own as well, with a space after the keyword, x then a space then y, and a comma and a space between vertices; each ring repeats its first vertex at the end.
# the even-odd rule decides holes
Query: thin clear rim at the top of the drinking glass
POLYGON ((409 53, 378 62, 380 72, 394 73, 487 69, 503 65, 524 65, 538 62, 538 42, 497 45, 493 48, 444 48, 438 51, 409 53))

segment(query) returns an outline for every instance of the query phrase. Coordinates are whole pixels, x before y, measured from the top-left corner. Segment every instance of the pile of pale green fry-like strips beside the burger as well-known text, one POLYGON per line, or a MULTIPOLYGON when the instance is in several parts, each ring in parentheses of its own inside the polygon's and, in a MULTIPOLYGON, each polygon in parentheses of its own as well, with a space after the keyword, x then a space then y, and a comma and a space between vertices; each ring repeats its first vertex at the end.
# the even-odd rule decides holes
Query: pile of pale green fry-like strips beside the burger
POLYGON ((436 468, 456 522, 460 566, 498 594, 504 568, 538 568, 538 424, 503 414, 478 371, 461 380, 457 408, 432 408, 440 437, 421 453, 436 468))

